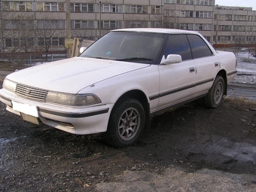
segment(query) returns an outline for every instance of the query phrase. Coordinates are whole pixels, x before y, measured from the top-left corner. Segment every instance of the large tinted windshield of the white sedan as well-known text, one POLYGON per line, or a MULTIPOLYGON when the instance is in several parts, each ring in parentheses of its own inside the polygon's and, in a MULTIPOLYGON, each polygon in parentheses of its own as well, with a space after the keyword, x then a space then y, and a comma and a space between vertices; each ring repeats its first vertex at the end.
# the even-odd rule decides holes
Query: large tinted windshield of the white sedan
POLYGON ((80 56, 127 62, 154 63, 166 34, 150 32, 109 32, 80 56))

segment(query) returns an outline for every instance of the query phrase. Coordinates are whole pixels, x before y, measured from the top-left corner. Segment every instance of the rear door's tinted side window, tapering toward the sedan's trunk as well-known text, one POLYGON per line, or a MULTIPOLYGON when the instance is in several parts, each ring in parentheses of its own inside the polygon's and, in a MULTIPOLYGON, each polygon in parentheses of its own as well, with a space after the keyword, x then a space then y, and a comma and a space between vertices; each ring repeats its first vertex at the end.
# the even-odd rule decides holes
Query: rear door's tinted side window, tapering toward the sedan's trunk
POLYGON ((188 41, 190 43, 192 56, 194 59, 211 56, 212 50, 208 47, 205 41, 198 35, 187 35, 188 41))

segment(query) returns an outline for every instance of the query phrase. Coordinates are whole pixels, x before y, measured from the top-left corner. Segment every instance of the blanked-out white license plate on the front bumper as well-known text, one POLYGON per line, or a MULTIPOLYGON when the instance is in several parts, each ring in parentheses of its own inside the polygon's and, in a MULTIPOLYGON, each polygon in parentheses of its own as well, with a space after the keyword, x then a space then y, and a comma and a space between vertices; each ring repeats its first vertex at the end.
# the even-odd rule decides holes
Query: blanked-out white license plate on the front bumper
POLYGON ((14 101, 11 101, 11 103, 14 111, 20 111, 21 114, 28 114, 32 117, 39 117, 38 108, 36 106, 23 104, 20 102, 14 102, 14 101))

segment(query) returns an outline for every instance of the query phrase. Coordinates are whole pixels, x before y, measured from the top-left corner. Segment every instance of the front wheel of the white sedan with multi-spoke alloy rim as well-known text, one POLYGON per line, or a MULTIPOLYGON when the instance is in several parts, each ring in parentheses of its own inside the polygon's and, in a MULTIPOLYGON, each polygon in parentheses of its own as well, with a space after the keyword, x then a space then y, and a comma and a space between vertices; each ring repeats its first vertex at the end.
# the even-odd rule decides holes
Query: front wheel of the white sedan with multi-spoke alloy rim
POLYGON ((108 121, 105 141, 116 147, 133 145, 145 126, 145 110, 142 104, 132 98, 118 102, 108 121))

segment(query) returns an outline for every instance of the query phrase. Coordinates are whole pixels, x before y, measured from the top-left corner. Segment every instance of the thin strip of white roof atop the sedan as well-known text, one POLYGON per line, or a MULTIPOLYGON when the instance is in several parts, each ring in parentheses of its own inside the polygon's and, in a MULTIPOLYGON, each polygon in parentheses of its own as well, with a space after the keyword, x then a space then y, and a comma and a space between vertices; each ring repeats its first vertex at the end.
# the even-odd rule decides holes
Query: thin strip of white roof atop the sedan
POLYGON ((182 29, 163 29, 163 28, 130 28, 130 29, 115 29, 113 32, 158 32, 167 34, 199 34, 199 32, 187 31, 182 29))

